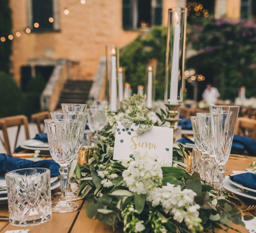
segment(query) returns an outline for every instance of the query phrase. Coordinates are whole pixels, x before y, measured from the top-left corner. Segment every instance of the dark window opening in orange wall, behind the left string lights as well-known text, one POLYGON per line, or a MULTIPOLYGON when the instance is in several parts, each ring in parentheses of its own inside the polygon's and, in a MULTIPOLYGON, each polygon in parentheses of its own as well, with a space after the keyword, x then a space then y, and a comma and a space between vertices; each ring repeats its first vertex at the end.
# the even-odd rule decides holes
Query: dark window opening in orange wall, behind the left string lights
POLYGON ((39 23, 39 28, 33 30, 53 29, 53 23, 49 22, 49 18, 53 17, 53 0, 33 0, 33 25, 39 23))

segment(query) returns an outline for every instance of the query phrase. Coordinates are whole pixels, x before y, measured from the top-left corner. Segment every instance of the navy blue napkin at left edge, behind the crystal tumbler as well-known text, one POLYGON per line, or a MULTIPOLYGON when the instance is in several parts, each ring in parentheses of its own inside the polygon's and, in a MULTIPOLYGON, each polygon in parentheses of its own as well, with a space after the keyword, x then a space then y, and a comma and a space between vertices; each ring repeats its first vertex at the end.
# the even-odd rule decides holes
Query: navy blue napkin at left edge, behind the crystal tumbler
POLYGON ((7 154, 0 154, 0 174, 4 173, 6 170, 13 171, 23 168, 33 168, 41 167, 48 168, 51 171, 51 175, 60 175, 59 168, 60 165, 52 159, 44 159, 40 161, 33 162, 28 159, 22 159, 18 157, 12 157, 7 154))

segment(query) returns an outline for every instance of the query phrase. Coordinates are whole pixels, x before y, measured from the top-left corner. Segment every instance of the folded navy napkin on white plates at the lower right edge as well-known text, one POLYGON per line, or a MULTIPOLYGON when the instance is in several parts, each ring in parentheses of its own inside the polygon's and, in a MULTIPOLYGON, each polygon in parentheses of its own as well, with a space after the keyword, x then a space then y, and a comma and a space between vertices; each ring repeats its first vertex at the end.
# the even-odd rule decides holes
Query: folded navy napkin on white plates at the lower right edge
POLYGON ((237 175, 229 175, 229 177, 238 184, 256 190, 256 174, 245 172, 237 175))

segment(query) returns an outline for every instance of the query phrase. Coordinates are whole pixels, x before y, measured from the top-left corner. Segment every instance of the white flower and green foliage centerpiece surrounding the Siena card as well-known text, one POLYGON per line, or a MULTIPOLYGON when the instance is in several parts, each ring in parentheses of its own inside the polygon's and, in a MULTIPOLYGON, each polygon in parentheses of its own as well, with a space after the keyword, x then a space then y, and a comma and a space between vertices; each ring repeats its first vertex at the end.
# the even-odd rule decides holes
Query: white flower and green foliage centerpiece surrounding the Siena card
MULTIPOLYGON (((129 161, 112 159, 112 128, 117 120, 125 127, 136 123, 138 134, 151 129, 153 122, 143 100, 134 95, 122 102, 117 115, 108 112, 109 124, 101 132, 97 152, 88 163, 71 165, 70 171, 80 178, 79 195, 89 201, 87 216, 129 233, 215 232, 215 228, 232 228, 230 222, 244 226, 234 204, 224 197, 217 199, 199 173, 189 173, 182 166, 188 151, 181 144, 173 145, 172 165, 139 152, 130 155, 129 161)), ((164 111, 158 115, 162 117, 164 111)))

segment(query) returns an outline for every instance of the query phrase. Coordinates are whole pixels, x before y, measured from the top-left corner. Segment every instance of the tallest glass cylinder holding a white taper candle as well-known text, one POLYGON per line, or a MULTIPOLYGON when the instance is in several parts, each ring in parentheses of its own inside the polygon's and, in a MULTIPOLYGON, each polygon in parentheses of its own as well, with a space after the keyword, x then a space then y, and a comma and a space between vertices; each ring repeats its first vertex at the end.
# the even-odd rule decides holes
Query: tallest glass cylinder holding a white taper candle
POLYGON ((168 10, 164 91, 167 105, 181 105, 183 101, 186 24, 186 8, 168 10))

